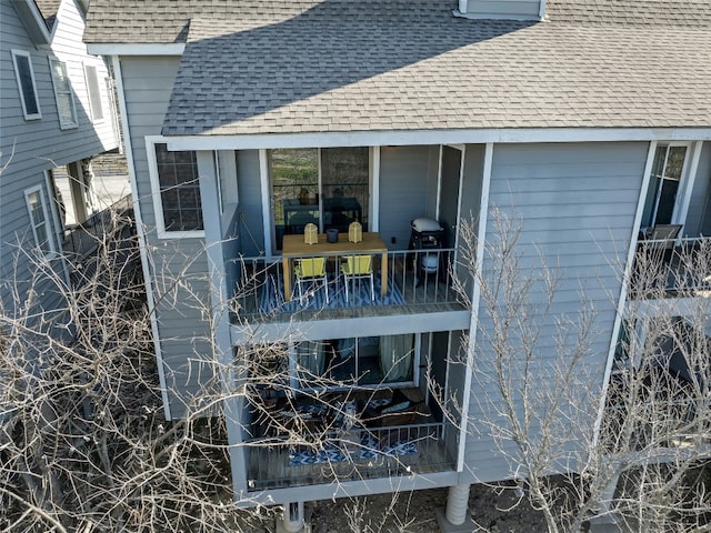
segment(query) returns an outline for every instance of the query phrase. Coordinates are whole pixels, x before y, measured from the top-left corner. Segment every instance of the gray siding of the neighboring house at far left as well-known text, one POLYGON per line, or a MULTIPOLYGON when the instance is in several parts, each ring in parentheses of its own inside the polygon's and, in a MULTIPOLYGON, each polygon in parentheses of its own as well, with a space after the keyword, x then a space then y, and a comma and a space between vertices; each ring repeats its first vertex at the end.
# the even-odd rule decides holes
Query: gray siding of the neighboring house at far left
MULTIPOLYGON (((38 269, 31 264, 27 255, 17 253, 20 249, 28 252, 36 244, 30 229, 24 191, 37 185, 42 187, 53 248, 61 251, 61 228, 54 218, 53 199, 48 189, 46 171, 90 158, 117 145, 113 135, 106 137, 93 129, 82 114, 80 101, 77 101, 78 128, 60 130, 59 127, 49 57, 61 56, 60 59, 68 64, 77 66, 81 66, 86 60, 84 48, 80 42, 81 31, 78 31, 77 21, 72 19, 74 6, 74 2, 62 3, 64 16, 58 19, 56 33, 56 39, 61 41, 61 44, 53 41, 50 50, 47 47, 34 46, 11 2, 0 2, 0 167, 3 168, 0 171, 0 298, 6 313, 11 313, 14 306, 6 283, 17 282, 19 300, 23 302, 23 293, 32 275, 38 275, 38 269), (68 20, 71 23, 64 24, 68 20), (24 119, 12 50, 30 54, 40 119, 24 119)), ((74 74, 76 71, 71 70, 72 88, 79 83, 74 74)), ((83 73, 81 76, 83 79, 83 73)), ((74 92, 79 93, 80 89, 77 88, 74 92)), ((50 264, 56 280, 66 281, 62 261, 57 259, 50 264)), ((63 299, 56 290, 57 283, 50 280, 49 275, 38 275, 34 283, 34 290, 42 295, 38 301, 39 306, 44 310, 63 306, 63 299)))

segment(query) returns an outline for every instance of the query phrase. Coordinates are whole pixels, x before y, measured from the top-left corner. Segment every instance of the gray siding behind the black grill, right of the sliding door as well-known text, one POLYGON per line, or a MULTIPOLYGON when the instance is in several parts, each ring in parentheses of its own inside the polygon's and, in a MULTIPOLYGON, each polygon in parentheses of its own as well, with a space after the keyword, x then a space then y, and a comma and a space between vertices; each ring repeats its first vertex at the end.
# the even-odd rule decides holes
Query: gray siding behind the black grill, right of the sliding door
POLYGON ((437 198, 438 158, 439 147, 380 150, 379 231, 391 250, 408 249, 412 219, 434 214, 430 209, 432 198, 437 198))

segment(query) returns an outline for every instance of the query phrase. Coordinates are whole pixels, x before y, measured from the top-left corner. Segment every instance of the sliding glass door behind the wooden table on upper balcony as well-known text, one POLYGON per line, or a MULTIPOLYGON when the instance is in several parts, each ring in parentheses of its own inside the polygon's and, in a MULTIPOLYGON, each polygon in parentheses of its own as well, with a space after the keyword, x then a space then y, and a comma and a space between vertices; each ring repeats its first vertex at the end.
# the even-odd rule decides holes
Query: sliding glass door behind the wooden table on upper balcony
POLYGON ((269 152, 271 201, 281 250, 284 234, 303 233, 309 222, 321 232, 347 232, 359 221, 368 231, 370 155, 367 147, 280 149, 269 152))

